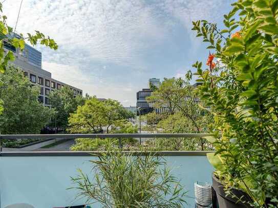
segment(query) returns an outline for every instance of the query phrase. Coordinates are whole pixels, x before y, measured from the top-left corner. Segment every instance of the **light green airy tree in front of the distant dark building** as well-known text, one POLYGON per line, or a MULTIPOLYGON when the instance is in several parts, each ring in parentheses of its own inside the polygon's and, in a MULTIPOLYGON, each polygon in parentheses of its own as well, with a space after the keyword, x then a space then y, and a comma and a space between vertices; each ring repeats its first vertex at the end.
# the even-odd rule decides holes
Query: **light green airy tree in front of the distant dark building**
MULTIPOLYGON (((198 95, 194 87, 189 84, 191 76, 189 72, 185 80, 165 78, 160 87, 147 97, 147 102, 155 108, 164 108, 164 112, 161 115, 156 115, 156 113, 146 115, 147 120, 151 121, 145 127, 146 130, 165 133, 205 133, 208 131, 205 127, 212 122, 211 115, 199 106, 198 95)), ((179 144, 180 139, 177 140, 179 144)), ((192 147, 195 146, 192 145, 192 147)), ((200 138, 200 146, 201 150, 204 150, 208 146, 207 141, 200 138)), ((174 149, 182 150, 180 147, 174 149)))

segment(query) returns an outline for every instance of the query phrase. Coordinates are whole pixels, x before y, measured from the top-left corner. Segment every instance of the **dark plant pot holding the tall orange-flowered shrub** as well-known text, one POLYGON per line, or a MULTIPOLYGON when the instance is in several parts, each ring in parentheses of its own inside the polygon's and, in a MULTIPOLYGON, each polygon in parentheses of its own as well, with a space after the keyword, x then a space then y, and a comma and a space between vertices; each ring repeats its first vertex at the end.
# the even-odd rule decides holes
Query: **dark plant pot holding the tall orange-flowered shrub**
MULTIPOLYGON (((252 199, 249 195, 239 189, 231 189, 231 192, 237 196, 232 198, 231 196, 226 196, 225 191, 223 189, 223 184, 217 179, 217 177, 212 174, 212 188, 216 192, 216 197, 218 201, 219 208, 249 208, 251 207, 248 202, 251 202, 252 199), (243 203, 238 199, 242 199, 241 201, 245 201, 243 203)), ((214 206, 216 207, 216 206, 214 206)))

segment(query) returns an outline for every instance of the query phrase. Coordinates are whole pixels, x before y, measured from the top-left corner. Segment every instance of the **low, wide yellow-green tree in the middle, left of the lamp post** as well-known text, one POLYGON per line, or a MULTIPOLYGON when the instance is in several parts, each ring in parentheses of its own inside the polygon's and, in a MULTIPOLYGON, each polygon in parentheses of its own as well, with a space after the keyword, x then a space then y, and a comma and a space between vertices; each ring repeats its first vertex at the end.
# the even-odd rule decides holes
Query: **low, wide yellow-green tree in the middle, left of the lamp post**
POLYGON ((91 98, 83 106, 78 106, 75 113, 70 114, 68 129, 72 133, 98 133, 104 129, 109 133, 111 127, 125 122, 129 114, 118 101, 91 98))

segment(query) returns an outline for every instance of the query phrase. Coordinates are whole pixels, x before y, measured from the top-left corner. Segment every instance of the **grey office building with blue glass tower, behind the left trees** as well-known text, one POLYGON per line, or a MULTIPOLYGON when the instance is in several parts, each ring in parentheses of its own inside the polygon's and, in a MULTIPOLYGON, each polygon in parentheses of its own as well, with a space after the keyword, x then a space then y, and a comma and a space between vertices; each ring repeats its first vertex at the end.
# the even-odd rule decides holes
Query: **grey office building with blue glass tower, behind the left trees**
MULTIPOLYGON (((17 34, 14 35, 17 38, 20 38, 17 34)), ((40 86, 40 96, 38 97, 38 100, 45 106, 50 106, 48 98, 50 92, 52 90, 59 90, 64 86, 69 86, 75 96, 82 96, 81 89, 55 80, 51 77, 50 72, 43 70, 41 68, 41 53, 30 45, 25 44, 24 50, 21 51, 15 49, 11 44, 4 41, 4 50, 6 52, 8 50, 12 51, 16 58, 11 64, 19 67, 34 85, 38 84, 40 86)))

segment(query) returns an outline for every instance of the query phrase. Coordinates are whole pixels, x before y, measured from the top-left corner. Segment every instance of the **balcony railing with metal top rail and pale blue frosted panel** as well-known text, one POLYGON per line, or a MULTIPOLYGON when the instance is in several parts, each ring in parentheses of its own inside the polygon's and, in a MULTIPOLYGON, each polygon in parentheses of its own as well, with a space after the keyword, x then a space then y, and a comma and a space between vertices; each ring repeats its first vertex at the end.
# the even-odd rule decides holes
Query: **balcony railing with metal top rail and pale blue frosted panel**
MULTIPOLYGON (((197 138, 211 134, 44 134, 0 135, 0 140, 23 138, 197 138)), ((34 207, 51 208, 84 204, 84 199, 75 199, 77 191, 72 188, 71 176, 77 168, 93 178, 89 160, 97 159, 92 152, 1 152, 0 156, 0 207, 15 203, 27 203, 34 207), (37 157, 40 156, 40 157, 37 157)), ((93 152, 97 153, 97 152, 93 152)), ((142 152, 134 151, 132 154, 142 152)), ((185 200, 194 207, 194 182, 211 182, 213 168, 205 156, 207 151, 161 151, 172 173, 180 178, 188 190, 185 200), (191 197, 191 198, 190 198, 191 197)), ((101 207, 94 204, 92 207, 101 207)))

